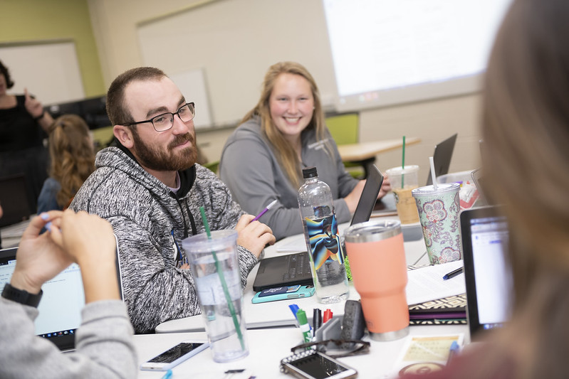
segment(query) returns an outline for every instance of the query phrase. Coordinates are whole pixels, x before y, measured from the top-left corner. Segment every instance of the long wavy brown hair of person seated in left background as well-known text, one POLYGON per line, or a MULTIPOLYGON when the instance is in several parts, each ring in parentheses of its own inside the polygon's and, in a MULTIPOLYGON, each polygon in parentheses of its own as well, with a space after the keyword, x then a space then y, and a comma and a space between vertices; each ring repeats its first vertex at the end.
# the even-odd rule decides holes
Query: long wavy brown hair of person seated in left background
POLYGON ((95 170, 95 153, 89 127, 81 117, 64 114, 53 122, 50 130, 50 176, 61 184, 56 199, 64 208, 95 170))

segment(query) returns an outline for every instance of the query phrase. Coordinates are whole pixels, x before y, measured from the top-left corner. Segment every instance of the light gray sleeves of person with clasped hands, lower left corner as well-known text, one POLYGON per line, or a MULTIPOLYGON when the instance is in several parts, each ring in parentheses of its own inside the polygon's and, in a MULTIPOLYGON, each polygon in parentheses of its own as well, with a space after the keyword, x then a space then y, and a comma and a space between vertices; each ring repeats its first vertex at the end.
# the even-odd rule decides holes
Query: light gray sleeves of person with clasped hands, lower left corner
POLYGON ((76 351, 62 354, 36 336, 38 309, 0 298, 0 378, 136 378, 132 326, 125 304, 94 301, 81 311, 76 351))

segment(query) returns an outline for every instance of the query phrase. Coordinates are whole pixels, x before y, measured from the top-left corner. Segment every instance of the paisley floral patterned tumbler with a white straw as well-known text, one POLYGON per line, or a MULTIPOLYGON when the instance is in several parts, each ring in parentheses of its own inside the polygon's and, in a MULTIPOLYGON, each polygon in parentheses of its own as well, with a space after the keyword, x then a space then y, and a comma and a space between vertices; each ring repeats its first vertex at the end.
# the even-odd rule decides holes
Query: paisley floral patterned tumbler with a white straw
POLYGON ((432 265, 461 260, 460 184, 439 183, 411 191, 432 265))

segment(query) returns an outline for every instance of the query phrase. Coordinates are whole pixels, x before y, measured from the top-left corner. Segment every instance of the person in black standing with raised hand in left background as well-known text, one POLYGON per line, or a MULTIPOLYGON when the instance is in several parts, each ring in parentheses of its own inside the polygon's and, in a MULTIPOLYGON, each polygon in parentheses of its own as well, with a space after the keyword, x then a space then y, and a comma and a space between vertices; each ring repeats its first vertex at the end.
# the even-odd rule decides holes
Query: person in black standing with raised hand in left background
POLYGON ((35 210, 48 176, 43 139, 53 118, 27 89, 24 95, 10 95, 7 90, 13 86, 8 68, 0 61, 0 177, 24 174, 28 203, 35 210))

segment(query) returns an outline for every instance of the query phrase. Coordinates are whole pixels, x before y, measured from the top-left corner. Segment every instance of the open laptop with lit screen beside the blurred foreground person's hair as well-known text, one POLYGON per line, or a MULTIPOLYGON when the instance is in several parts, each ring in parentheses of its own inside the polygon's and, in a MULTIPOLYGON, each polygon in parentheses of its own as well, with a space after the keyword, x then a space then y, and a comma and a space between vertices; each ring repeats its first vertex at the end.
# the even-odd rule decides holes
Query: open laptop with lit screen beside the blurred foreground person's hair
POLYGON ((460 215, 466 316, 471 338, 510 318, 512 276, 508 263, 508 222, 498 206, 471 208, 460 215))

